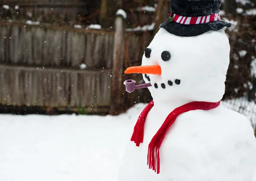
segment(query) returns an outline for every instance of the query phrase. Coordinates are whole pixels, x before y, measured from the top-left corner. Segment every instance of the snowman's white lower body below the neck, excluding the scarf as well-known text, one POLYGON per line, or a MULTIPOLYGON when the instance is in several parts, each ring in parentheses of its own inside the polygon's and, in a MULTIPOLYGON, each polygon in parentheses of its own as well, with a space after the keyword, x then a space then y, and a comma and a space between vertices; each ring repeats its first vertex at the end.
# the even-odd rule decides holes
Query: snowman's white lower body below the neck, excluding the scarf
POLYGON ((161 146, 160 174, 149 170, 148 144, 168 114, 159 112, 157 107, 149 112, 143 144, 128 143, 119 181, 253 181, 256 145, 250 123, 223 106, 180 115, 161 146))

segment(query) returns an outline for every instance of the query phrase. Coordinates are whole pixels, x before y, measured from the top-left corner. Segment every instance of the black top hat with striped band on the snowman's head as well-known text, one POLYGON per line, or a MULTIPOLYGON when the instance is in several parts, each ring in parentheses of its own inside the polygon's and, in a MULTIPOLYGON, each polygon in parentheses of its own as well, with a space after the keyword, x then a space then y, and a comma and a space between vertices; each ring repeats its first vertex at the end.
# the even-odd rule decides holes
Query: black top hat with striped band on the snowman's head
POLYGON ((169 20, 160 28, 177 36, 190 37, 231 24, 220 20, 221 0, 171 0, 169 20))

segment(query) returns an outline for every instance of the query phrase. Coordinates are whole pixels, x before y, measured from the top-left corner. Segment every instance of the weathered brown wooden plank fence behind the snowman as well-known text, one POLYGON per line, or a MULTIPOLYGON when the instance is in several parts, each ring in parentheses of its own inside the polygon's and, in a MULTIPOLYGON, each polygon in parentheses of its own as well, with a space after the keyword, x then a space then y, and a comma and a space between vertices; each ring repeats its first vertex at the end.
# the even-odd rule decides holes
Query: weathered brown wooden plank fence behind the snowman
POLYGON ((128 78, 142 79, 138 75, 123 76, 123 70, 140 63, 151 32, 123 32, 119 42, 123 56, 114 58, 117 32, 3 22, 0 29, 2 105, 82 107, 118 114, 134 101, 147 101, 145 93, 145 97, 138 95, 141 91, 123 93, 125 86, 120 83, 128 78), (122 67, 116 70, 113 62, 122 62, 122 67), (116 72, 119 77, 115 77, 116 72))

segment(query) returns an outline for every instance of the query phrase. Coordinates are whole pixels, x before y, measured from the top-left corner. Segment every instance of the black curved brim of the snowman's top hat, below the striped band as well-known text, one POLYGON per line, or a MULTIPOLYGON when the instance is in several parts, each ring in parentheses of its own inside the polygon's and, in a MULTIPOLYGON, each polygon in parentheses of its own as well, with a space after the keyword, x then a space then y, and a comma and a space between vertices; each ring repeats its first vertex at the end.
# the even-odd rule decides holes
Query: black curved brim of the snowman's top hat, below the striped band
POLYGON ((160 28, 164 28, 167 32, 182 37, 192 37, 203 34, 208 31, 218 31, 225 26, 230 27, 231 23, 227 23, 223 20, 218 20, 210 23, 198 24, 198 25, 184 25, 173 21, 166 21, 160 25, 160 28))

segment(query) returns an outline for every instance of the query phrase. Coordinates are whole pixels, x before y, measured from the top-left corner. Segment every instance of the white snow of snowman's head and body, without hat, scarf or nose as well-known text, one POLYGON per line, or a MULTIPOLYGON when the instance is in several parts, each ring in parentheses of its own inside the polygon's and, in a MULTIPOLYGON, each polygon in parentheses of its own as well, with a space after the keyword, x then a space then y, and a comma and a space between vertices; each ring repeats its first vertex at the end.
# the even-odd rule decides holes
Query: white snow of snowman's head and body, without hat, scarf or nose
POLYGON ((126 147, 119 181, 253 181, 253 129, 243 115, 221 105, 179 115, 160 148, 160 174, 148 169, 148 144, 170 112, 192 101, 221 100, 230 46, 223 29, 179 37, 162 28, 148 48, 151 55, 144 55, 142 64, 159 65, 162 74, 143 75, 153 85, 154 106, 145 121, 143 143, 136 147, 129 141, 126 147), (171 53, 169 61, 161 60, 163 51, 171 53))

